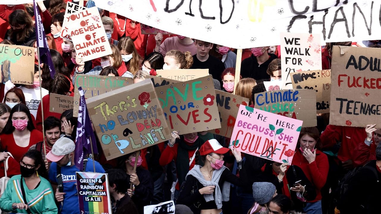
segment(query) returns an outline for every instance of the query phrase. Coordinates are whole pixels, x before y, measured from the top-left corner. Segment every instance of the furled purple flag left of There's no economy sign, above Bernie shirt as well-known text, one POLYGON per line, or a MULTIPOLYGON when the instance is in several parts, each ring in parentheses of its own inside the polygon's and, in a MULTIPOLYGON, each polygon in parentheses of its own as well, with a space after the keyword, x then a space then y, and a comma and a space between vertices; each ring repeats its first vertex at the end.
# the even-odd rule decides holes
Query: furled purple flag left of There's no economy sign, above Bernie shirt
POLYGON ((83 157, 91 154, 91 144, 93 144, 94 154, 98 154, 96 147, 95 136, 93 128, 91 128, 90 115, 87 111, 85 95, 82 87, 78 88, 79 94, 79 109, 78 109, 78 123, 77 123, 77 137, 75 138, 75 166, 79 169, 83 168, 83 157), (91 141, 90 141, 91 139, 91 141))

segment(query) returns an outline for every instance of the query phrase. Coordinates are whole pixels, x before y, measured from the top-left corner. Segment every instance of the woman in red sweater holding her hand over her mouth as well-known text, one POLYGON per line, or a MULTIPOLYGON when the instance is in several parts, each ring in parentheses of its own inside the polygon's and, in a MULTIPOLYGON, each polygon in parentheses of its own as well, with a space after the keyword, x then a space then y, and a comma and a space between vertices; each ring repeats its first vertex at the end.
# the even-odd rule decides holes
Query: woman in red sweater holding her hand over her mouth
MULTIPOLYGON (((299 166, 308 180, 316 188, 316 198, 306 201, 303 208, 304 212, 311 214, 322 214, 322 195, 320 190, 325 185, 328 176, 328 158, 323 152, 320 152, 322 144, 319 139, 319 131, 316 127, 304 127, 300 131, 299 141, 296 145, 292 165, 299 166)), ((291 191, 305 193, 302 185, 291 187, 291 191)))

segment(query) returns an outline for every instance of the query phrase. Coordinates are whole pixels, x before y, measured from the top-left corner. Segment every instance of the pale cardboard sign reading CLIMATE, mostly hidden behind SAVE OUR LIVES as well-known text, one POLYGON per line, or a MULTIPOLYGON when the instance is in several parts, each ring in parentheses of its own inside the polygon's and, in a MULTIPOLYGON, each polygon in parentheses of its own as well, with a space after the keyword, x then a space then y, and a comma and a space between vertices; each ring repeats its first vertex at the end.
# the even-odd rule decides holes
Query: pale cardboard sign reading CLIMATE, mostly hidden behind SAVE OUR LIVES
POLYGON ((177 80, 189 81, 209 75, 209 69, 170 69, 157 70, 157 75, 161 77, 177 80))

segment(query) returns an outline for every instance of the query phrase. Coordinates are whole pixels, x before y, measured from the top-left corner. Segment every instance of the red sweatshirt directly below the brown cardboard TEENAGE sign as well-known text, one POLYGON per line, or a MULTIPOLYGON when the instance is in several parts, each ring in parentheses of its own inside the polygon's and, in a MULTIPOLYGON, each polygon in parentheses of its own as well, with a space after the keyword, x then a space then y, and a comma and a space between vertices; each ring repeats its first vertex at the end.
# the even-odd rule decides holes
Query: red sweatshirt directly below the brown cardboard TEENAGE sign
MULTIPOLYGON (((365 138, 367 138, 365 128, 335 125, 328 125, 320 136, 323 143, 323 148, 330 148, 337 142, 341 142, 337 157, 342 162, 347 160, 354 161, 355 157, 359 157, 361 155, 361 151, 357 151, 355 149, 359 144, 364 143, 365 138)), ((364 163, 360 163, 360 165, 363 164, 364 163)), ((354 166, 356 167, 359 165, 355 164, 354 166)))

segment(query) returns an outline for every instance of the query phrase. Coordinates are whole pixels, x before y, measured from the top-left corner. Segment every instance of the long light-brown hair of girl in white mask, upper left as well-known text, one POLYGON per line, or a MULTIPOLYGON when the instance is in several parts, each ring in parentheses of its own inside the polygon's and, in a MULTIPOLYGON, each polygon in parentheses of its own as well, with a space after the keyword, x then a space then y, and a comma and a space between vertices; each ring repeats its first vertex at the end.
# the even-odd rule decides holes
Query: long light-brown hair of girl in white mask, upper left
POLYGON ((118 49, 120 51, 125 51, 126 53, 132 53, 132 59, 130 59, 128 62, 130 65, 128 71, 134 75, 139 71, 140 63, 142 61, 141 56, 139 55, 138 51, 136 51, 134 40, 132 40, 130 37, 121 38, 118 43, 118 49))

